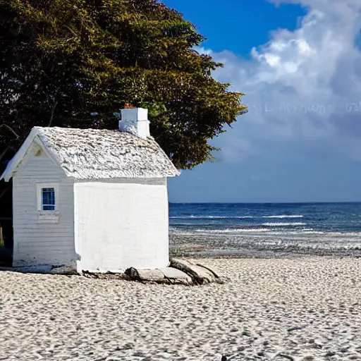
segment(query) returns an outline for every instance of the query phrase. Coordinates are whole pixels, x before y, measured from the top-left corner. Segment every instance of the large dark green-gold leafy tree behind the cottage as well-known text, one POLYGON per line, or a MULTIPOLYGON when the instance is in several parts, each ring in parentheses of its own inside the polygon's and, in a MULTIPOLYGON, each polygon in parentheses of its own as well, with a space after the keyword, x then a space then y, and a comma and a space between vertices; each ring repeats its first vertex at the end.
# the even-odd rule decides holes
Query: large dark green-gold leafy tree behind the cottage
POLYGON ((0 0, 0 154, 32 126, 116 128, 126 103, 180 169, 212 158, 209 140, 246 111, 204 38, 157 0, 0 0), (92 116, 97 113, 97 116, 92 116))

